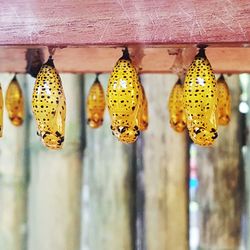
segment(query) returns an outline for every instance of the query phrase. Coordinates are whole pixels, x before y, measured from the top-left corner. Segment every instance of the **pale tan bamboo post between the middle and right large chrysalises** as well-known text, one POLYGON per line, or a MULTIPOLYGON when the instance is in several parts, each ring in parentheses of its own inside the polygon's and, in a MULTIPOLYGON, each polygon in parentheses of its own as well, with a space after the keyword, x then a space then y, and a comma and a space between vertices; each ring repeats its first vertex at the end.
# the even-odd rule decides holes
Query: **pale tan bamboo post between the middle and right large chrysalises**
POLYGON ((144 136, 147 250, 188 249, 187 146, 170 128, 167 101, 177 77, 143 75, 149 102, 144 136))

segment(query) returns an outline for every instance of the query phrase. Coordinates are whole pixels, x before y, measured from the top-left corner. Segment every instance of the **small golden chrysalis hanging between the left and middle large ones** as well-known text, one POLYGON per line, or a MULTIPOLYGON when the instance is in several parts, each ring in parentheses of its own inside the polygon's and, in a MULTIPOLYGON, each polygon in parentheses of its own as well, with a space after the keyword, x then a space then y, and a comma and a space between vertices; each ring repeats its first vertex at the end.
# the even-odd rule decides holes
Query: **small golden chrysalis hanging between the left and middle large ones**
POLYGON ((104 110, 105 94, 97 74, 87 97, 88 125, 91 128, 98 128, 102 125, 104 110))

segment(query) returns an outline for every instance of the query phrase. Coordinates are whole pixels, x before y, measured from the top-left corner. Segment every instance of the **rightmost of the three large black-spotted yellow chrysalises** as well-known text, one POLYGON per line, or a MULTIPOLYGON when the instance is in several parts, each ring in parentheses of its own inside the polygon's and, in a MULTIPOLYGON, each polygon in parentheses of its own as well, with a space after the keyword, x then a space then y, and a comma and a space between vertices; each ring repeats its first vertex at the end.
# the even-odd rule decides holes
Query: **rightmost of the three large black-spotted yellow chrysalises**
POLYGON ((217 138, 217 88, 204 48, 190 65, 184 83, 184 109, 194 143, 209 146, 217 138))

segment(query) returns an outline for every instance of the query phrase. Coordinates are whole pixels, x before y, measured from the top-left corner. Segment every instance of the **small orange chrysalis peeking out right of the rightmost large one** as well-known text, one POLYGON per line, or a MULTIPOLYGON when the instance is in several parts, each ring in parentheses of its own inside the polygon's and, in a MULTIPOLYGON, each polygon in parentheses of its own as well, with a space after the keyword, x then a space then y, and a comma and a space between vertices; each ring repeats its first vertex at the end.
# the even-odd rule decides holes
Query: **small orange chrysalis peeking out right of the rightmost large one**
POLYGON ((231 97, 223 75, 217 80, 218 91, 218 124, 227 125, 231 116, 231 97))

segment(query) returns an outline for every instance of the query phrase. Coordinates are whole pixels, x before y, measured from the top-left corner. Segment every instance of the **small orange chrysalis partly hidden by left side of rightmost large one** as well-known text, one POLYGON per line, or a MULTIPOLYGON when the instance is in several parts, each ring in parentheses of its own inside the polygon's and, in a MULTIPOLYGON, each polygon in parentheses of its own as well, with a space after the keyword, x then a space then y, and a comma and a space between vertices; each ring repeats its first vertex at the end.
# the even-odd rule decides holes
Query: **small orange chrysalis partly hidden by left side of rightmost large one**
POLYGON ((183 84, 180 78, 170 93, 168 110, 171 127, 177 132, 184 131, 186 128, 186 116, 183 103, 183 84))

